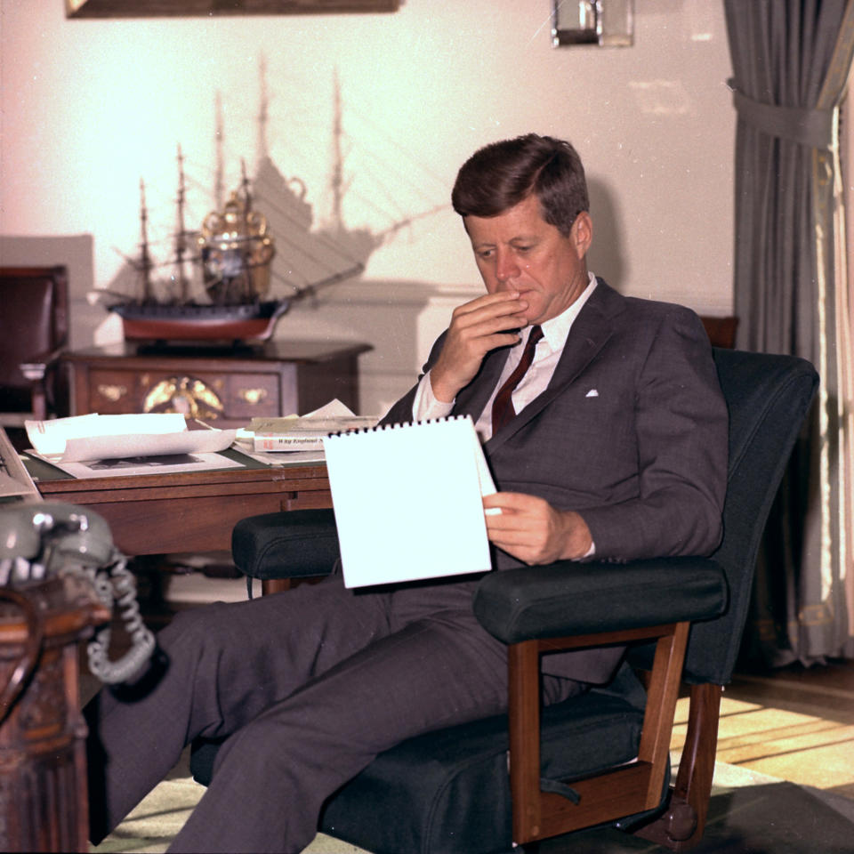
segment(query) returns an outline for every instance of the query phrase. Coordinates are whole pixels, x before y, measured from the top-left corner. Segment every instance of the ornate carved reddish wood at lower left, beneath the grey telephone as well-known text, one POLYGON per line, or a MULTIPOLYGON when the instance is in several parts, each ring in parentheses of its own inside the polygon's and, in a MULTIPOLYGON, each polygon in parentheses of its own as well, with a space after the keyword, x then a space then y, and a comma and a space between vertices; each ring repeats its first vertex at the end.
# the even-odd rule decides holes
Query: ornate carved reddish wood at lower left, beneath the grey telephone
POLYGON ((75 592, 59 579, 0 594, 0 686, 25 671, 20 690, 0 698, 0 850, 87 851, 77 650, 109 611, 91 588, 75 592))

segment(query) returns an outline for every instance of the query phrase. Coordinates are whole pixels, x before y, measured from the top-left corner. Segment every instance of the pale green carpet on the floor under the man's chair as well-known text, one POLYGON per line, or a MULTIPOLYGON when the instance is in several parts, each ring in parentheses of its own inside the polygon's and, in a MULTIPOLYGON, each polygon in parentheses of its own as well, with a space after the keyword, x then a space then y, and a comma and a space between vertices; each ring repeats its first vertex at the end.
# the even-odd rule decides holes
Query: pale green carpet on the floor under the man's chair
MULTIPOLYGON (((854 802, 795 786, 721 762, 703 842, 696 854, 852 854, 854 802)), ((158 854, 204 792, 184 761, 157 786, 101 845, 97 854, 158 854)), ((650 842, 611 829, 570 834, 544 842, 541 854, 622 854, 661 851, 650 842)), ((318 834, 306 854, 367 854, 318 834)), ((401 851, 399 854, 410 854, 401 851)))

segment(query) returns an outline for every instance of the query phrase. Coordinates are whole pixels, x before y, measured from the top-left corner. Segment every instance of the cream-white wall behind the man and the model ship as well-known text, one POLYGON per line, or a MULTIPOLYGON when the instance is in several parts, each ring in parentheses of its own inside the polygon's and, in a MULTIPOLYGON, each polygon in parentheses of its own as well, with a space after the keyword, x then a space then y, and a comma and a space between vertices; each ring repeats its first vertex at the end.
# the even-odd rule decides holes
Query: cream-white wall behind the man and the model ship
MULTIPOLYGON (((93 284, 109 284, 117 249, 133 254, 139 238, 141 178, 153 229, 172 224, 177 143, 189 224, 212 207, 215 93, 228 185, 241 157, 254 164, 264 57, 270 156, 304 181, 316 221, 330 205, 337 71, 350 227, 383 231, 445 205, 456 169, 487 141, 552 133, 587 166, 592 268, 624 294, 729 313, 735 115, 722 4, 635 7, 631 48, 555 50, 551 0, 178 20, 65 20, 61 0, 0 0, 0 235, 92 234, 93 284)), ((445 207, 389 238, 362 282, 301 303, 278 334, 375 342, 362 399, 375 411, 411 382, 477 281, 445 207)), ((117 334, 111 322, 97 333, 117 334)))

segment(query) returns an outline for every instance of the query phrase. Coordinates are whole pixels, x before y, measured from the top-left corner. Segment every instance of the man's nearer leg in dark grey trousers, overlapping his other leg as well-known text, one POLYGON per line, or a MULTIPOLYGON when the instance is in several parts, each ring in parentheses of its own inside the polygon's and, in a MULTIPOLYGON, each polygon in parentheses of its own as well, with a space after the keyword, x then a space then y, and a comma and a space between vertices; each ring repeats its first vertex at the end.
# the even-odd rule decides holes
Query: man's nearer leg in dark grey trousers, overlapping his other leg
POLYGON ((485 667, 451 624, 408 624, 231 737, 170 850, 297 854, 314 838, 326 798, 377 753, 502 711, 505 684, 504 661, 485 667))

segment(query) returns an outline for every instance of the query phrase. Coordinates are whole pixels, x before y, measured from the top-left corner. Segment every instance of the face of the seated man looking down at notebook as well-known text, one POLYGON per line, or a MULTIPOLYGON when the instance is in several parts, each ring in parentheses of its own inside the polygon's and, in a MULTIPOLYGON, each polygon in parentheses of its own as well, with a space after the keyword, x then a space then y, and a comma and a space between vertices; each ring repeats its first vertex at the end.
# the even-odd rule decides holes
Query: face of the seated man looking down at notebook
POLYGON ((556 318, 588 285, 592 223, 578 214, 568 237, 540 215, 536 195, 497 216, 467 216, 465 230, 487 291, 518 291, 528 325, 556 318))

